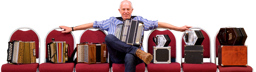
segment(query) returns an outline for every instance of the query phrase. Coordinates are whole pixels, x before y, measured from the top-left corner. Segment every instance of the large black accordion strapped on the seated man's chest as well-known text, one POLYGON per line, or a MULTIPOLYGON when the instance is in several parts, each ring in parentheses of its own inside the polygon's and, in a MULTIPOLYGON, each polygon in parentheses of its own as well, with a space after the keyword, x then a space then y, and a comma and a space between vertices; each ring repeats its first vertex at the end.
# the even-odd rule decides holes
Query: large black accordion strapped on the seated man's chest
POLYGON ((142 21, 126 19, 123 24, 116 26, 115 36, 128 45, 140 48, 143 30, 144 23, 142 21))

